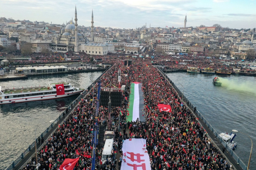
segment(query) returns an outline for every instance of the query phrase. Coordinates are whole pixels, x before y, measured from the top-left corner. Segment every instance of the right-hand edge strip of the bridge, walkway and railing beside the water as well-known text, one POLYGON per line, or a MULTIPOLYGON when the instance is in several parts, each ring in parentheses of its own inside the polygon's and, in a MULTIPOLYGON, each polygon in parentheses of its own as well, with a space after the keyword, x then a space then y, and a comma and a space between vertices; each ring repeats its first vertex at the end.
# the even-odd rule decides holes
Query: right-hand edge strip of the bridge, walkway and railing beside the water
MULTIPOLYGON (((169 81, 172 85, 172 87, 176 90, 176 92, 179 94, 179 96, 182 96, 182 91, 170 80, 170 78, 167 77, 167 75, 158 67, 158 70, 160 73, 169 81)), ((226 160, 229 162, 229 164, 232 165, 235 170, 246 170, 247 165, 236 155, 236 153, 229 149, 226 143, 219 137, 218 132, 213 128, 213 126, 203 117, 202 113, 200 113, 197 109, 194 112, 195 106, 184 96, 183 94, 183 105, 186 105, 193 113, 194 115, 199 119, 199 123, 208 133, 208 137, 211 138, 211 141, 213 144, 219 148, 219 150, 222 152, 221 148, 225 147, 226 152, 223 154, 223 156, 226 158, 226 160)))

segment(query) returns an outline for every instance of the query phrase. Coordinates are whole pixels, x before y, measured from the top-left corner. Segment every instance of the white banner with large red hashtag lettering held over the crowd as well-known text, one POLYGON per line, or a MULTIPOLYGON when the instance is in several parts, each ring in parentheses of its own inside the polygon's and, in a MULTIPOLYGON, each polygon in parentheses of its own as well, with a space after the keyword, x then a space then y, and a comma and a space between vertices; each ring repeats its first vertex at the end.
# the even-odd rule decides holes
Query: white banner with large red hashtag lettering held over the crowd
POLYGON ((151 170, 145 139, 126 139, 122 152, 121 170, 151 170))

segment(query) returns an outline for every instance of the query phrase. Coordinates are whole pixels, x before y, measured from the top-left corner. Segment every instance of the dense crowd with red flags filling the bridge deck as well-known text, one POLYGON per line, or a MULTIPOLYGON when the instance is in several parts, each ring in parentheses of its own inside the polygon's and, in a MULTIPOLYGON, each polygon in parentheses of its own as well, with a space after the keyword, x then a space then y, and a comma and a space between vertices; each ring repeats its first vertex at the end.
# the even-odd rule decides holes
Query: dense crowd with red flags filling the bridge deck
MULTIPOLYGON (((120 85, 127 85, 123 92, 123 104, 111 108, 111 119, 108 118, 107 106, 100 106, 99 124, 116 122, 114 131, 114 148, 112 160, 101 164, 103 147, 96 150, 96 169, 120 169, 122 142, 129 138, 147 140, 152 170, 228 170, 232 169, 218 150, 206 131, 200 125, 193 112, 186 106, 181 107, 181 99, 168 82, 151 65, 150 60, 133 59, 132 65, 124 66, 125 57, 109 56, 108 62, 115 64, 101 77, 102 87, 120 87, 117 72, 121 71, 120 85), (127 75, 126 75, 127 74, 127 75), (126 122, 127 107, 130 96, 130 83, 141 82, 144 94, 146 122, 126 122), (160 111, 158 104, 171 106, 170 112, 160 111), (121 123, 118 124, 118 117, 121 123), (157 121, 159 125, 157 128, 157 121), (118 127, 120 126, 120 133, 118 127), (117 155, 120 152, 120 157, 117 155), (118 160, 118 161, 117 161, 118 160), (116 166, 118 164, 118 167, 116 166)), ((59 124, 49 140, 43 142, 37 152, 39 170, 57 170, 65 158, 79 158, 75 170, 91 169, 92 131, 95 124, 97 84, 88 91, 77 107, 59 124)), ((111 130, 111 127, 108 127, 111 130)), ((35 169, 35 157, 23 169, 35 169)))

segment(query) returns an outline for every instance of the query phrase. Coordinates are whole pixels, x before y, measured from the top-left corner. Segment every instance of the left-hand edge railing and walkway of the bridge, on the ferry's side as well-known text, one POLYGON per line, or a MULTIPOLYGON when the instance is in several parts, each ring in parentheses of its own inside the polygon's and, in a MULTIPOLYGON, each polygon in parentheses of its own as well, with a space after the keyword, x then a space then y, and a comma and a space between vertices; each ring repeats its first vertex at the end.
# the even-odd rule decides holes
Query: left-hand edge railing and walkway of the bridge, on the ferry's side
MULTIPOLYGON (((111 68, 111 67, 109 67, 111 68)), ((64 111, 62 114, 59 115, 59 117, 53 122, 41 135, 40 138, 44 138, 44 143, 37 147, 37 150, 41 149, 41 146, 43 146, 46 141, 51 137, 51 134, 54 133, 54 131, 58 128, 58 124, 63 123, 63 121, 67 118, 67 116, 73 111, 73 109, 76 107, 76 105, 81 101, 82 98, 84 98, 89 91, 92 89, 93 85, 95 85, 100 77, 102 77, 105 72, 108 71, 109 68, 106 68, 105 71, 92 83, 87 89, 85 89, 81 95, 79 95, 68 107, 68 112, 64 111)), ((36 143, 38 145, 38 140, 36 139, 36 143)), ((32 157, 35 156, 35 142, 32 142, 29 147, 21 153, 21 155, 11 163, 11 165, 6 170, 19 170, 26 166, 27 162, 29 162, 32 157)))

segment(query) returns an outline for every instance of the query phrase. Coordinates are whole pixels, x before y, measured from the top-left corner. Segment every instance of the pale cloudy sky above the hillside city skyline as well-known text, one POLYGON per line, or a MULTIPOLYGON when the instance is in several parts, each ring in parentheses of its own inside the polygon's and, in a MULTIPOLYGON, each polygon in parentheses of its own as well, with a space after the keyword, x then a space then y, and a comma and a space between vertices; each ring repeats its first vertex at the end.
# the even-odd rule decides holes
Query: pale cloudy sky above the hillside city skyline
POLYGON ((256 0, 0 0, 0 17, 14 20, 66 24, 75 18, 78 25, 138 28, 187 27, 220 24, 229 28, 256 27, 256 0))

